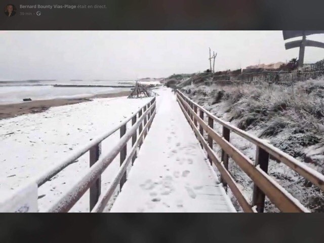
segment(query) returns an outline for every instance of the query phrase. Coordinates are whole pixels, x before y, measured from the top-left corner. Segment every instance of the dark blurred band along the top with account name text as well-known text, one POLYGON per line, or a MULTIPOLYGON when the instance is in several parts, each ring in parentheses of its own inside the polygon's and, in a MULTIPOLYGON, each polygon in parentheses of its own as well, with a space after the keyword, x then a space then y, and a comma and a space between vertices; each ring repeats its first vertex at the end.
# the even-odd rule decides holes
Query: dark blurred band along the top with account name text
MULTIPOLYGON (((0 0, 0 6, 8 2, 0 0)), ((0 30, 278 30, 322 29, 320 0, 14 0, 0 30), (106 9, 20 9, 20 5, 106 5, 106 9), (31 16, 20 16, 20 12, 31 16)))

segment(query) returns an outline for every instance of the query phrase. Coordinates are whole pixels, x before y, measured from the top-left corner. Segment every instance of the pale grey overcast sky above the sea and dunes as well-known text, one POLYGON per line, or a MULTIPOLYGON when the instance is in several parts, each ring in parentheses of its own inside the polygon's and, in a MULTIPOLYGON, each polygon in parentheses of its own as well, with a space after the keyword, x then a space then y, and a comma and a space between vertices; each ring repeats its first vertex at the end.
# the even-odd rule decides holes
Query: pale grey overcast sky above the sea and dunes
MULTIPOLYGON (((209 47, 215 70, 233 70, 298 57, 284 43, 282 31, 0 31, 0 79, 166 77, 209 68, 209 47)), ((306 63, 321 59, 306 47, 306 63)))

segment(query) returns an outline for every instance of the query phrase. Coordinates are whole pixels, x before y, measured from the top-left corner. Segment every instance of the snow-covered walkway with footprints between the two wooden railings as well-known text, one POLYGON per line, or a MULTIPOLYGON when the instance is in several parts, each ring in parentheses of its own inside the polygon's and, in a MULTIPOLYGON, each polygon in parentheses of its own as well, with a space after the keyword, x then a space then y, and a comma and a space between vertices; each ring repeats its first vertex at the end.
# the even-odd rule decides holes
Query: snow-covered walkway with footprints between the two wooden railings
POLYGON ((158 93, 151 129, 110 212, 235 212, 175 94, 158 93))

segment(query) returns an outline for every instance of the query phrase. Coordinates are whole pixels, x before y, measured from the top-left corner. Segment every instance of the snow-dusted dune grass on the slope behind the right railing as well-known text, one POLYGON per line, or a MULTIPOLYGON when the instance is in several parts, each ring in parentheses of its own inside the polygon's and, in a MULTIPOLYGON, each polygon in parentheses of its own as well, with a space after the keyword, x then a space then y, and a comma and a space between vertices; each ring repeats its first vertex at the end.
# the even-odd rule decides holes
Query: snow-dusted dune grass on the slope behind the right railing
MULTIPOLYGON (((324 80, 298 82, 293 87, 191 85, 184 90, 217 116, 324 173, 324 80)), ((255 145, 231 134, 231 142, 254 159, 255 145)), ((252 181, 233 161, 230 170, 251 198, 252 181)), ((324 194, 287 166, 271 160, 269 174, 304 206, 324 212, 324 194)), ((266 210, 275 211, 269 202, 266 210)))

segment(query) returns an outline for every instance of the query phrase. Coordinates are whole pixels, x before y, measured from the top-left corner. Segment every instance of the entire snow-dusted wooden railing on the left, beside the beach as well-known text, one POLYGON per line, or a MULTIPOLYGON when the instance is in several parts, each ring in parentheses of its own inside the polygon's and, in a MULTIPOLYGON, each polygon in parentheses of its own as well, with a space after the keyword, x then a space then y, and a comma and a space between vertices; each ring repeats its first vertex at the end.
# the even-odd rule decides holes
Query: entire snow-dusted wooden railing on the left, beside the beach
POLYGON ((119 124, 117 127, 101 135, 100 137, 93 139, 89 144, 69 155, 69 157, 62 161, 62 163, 50 169, 48 173, 37 178, 36 182, 39 187, 49 181, 64 168, 75 163, 75 160, 77 158, 88 151, 90 152, 90 168, 88 172, 84 176, 79 178, 74 186, 70 190, 68 190, 65 195, 62 196, 49 209, 48 212, 68 212, 88 189, 90 189, 90 211, 102 212, 116 187, 119 185, 119 189, 121 190, 124 183, 126 182, 126 169, 129 166, 130 161, 132 161, 132 163, 134 162, 137 156, 137 150, 139 149, 139 147, 143 143, 144 138, 147 135, 155 112, 156 101, 154 97, 137 112, 135 112, 135 114, 124 120, 123 123, 119 124), (127 131, 127 123, 130 120, 132 120, 132 127, 127 131), (120 140, 108 154, 103 156, 101 154, 101 142, 118 130, 120 133, 120 140), (127 142, 131 138, 132 149, 128 154, 127 142), (119 172, 116 178, 110 184, 109 188, 104 193, 101 193, 101 174, 118 154, 120 154, 119 172))

